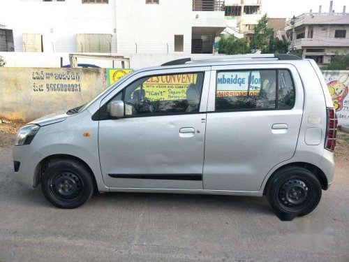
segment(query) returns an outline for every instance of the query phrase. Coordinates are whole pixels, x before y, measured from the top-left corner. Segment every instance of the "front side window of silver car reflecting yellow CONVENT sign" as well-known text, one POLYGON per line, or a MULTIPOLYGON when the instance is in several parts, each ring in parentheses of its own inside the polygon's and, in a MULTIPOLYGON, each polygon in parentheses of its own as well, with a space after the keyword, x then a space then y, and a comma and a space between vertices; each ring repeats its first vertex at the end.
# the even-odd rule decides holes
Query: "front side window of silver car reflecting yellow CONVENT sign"
POLYGON ((126 117, 199 112, 203 80, 204 73, 140 78, 112 101, 124 101, 126 117))

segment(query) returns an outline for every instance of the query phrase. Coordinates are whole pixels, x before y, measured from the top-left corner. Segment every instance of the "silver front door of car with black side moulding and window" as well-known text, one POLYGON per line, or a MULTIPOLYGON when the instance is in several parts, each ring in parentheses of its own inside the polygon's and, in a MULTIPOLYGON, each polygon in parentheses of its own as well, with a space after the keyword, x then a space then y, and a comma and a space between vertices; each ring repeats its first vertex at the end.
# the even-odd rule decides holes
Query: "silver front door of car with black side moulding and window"
POLYGON ((99 123, 107 187, 202 189, 208 86, 209 71, 161 71, 102 101, 106 115, 111 100, 125 104, 125 117, 99 123))

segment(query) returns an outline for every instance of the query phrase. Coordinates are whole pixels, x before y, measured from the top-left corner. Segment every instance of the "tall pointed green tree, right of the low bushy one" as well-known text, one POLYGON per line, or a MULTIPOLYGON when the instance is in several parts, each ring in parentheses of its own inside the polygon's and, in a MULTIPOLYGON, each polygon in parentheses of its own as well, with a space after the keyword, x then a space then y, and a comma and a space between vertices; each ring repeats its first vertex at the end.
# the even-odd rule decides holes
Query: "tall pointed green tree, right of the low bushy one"
POLYGON ((267 14, 263 15, 255 26, 250 47, 254 50, 260 50, 262 53, 269 52, 270 36, 273 34, 273 29, 268 27, 267 14))

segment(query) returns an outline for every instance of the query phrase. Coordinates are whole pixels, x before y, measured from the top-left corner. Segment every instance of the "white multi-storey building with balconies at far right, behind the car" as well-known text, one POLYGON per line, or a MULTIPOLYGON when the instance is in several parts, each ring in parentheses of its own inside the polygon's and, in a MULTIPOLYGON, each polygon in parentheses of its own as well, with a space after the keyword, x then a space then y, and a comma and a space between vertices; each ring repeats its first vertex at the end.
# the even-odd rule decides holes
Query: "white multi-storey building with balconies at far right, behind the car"
POLYGON ((334 54, 349 53, 349 13, 334 13, 332 1, 328 13, 304 13, 286 22, 291 43, 289 50, 302 50, 305 58, 329 64, 334 54))

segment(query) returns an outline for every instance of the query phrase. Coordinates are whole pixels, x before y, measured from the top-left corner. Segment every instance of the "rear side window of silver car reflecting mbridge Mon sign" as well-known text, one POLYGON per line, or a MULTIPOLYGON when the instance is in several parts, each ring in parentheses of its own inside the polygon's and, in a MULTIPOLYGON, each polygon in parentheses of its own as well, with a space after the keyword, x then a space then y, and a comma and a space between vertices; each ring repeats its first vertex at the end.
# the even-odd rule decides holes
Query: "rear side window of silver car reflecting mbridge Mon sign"
POLYGON ((287 70, 220 71, 216 111, 290 109, 295 90, 287 70))

